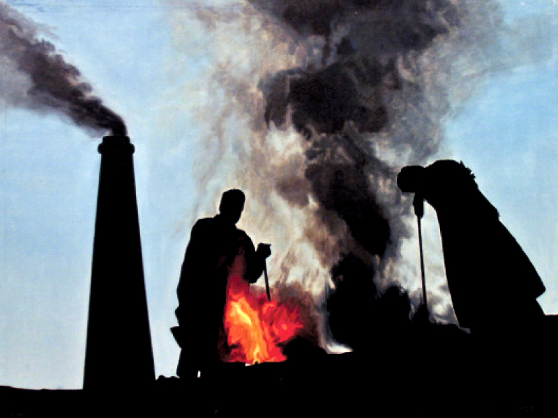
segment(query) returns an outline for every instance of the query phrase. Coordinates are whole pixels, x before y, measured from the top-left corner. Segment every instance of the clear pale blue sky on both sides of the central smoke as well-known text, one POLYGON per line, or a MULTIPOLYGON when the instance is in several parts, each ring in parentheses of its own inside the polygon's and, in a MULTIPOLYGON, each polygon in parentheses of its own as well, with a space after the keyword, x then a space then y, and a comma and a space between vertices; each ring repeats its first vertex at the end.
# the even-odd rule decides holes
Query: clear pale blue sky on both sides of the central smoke
MULTIPOLYGON (((128 124, 156 373, 172 376, 179 352, 168 329, 197 201, 196 125, 173 98, 211 65, 211 37, 190 36, 191 54, 176 55, 168 14, 179 10, 155 0, 9 3, 51 27, 52 42, 128 124)), ((510 24, 554 19, 558 8, 550 0, 505 6, 510 24)), ((552 45, 541 56, 483 80, 446 118, 440 156, 476 173, 543 277, 543 308, 556 314, 558 56, 552 45)), ((82 385, 99 141, 55 114, 0 109, 0 385, 82 385)))

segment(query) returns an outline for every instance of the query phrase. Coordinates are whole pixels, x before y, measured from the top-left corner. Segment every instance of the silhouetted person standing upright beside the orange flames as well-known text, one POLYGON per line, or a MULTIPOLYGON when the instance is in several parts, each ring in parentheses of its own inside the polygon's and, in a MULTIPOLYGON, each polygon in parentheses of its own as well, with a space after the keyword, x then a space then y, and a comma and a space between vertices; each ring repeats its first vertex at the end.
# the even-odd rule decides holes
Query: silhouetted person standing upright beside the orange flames
POLYGON ((198 373, 211 376, 220 361, 227 276, 236 256, 243 255, 245 279, 254 283, 271 254, 269 245, 260 244, 256 250, 250 237, 236 228, 245 199, 241 190, 228 190, 221 197, 219 214, 199 219, 193 226, 177 289, 176 335, 182 350, 176 373, 180 378, 197 378, 198 373))

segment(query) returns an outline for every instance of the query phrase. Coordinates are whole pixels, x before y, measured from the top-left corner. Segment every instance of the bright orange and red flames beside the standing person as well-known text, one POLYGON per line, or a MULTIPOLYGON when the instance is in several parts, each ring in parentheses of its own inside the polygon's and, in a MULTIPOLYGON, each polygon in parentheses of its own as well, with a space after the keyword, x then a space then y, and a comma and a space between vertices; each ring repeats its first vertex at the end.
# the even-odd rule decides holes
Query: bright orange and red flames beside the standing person
POLYGON ((250 293, 240 274, 230 274, 225 307, 225 332, 231 348, 227 362, 282 362, 281 345, 303 329, 300 308, 250 293))

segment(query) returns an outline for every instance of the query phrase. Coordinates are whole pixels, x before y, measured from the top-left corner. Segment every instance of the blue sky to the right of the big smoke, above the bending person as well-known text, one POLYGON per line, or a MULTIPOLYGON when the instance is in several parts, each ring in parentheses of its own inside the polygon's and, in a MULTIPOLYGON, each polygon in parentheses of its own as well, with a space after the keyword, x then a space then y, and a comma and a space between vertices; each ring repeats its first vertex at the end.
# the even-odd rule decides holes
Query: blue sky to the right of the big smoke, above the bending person
MULTIPOLYGON (((511 23, 557 12, 550 1, 507 7, 511 23)), ((555 33, 555 27, 541 26, 541 31, 555 33)), ((520 60, 483 80, 448 119, 446 152, 473 169, 481 191, 545 281, 547 292, 539 298, 543 309, 557 314, 558 56, 555 45, 543 49, 541 61, 520 60)))

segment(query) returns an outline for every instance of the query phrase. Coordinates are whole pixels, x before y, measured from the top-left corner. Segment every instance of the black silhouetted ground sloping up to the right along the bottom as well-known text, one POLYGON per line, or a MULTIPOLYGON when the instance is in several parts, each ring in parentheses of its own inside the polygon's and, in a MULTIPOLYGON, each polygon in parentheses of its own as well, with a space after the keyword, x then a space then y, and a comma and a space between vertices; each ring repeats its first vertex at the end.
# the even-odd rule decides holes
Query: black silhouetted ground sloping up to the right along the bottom
MULTIPOLYGON (((282 363, 223 364, 211 380, 130 389, 0 387, 0 417, 558 417, 558 359, 540 339, 474 341, 453 327, 384 336, 366 353, 302 347, 282 363)), ((550 330, 549 330, 550 331, 550 330)))

